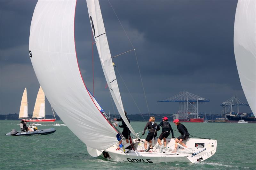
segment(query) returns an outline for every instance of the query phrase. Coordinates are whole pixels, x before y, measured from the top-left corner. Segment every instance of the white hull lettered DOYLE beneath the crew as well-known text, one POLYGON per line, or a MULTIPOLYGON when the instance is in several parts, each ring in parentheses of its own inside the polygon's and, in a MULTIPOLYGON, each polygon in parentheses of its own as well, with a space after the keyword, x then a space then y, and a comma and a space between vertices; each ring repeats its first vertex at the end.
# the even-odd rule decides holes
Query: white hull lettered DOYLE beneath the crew
MULTIPOLYGON (((110 157, 111 159, 117 161, 125 161, 125 162, 143 162, 143 163, 159 163, 159 162, 192 162, 195 163, 197 161, 204 161, 205 159, 210 158, 217 149, 217 140, 209 140, 209 139, 195 139, 189 138, 185 140, 184 143, 193 153, 200 152, 196 155, 192 155, 187 150, 183 150, 182 147, 178 147, 176 153, 173 153, 175 138, 168 138, 167 140, 167 148, 163 150, 159 149, 159 145, 157 140, 154 140, 153 149, 150 152, 144 152, 144 143, 145 141, 138 142, 137 139, 134 139, 135 151, 129 149, 125 149, 125 153, 123 149, 116 151, 117 144, 105 150, 101 156, 104 158, 110 157), (197 146, 197 147, 196 147, 197 146), (127 153, 128 151, 128 153, 127 153), (108 156, 109 155, 109 156, 108 156)), ((124 140, 123 140, 124 141, 124 140)), ((163 141, 162 141, 163 143, 163 141)), ((127 147, 129 144, 125 144, 124 147, 127 147)))

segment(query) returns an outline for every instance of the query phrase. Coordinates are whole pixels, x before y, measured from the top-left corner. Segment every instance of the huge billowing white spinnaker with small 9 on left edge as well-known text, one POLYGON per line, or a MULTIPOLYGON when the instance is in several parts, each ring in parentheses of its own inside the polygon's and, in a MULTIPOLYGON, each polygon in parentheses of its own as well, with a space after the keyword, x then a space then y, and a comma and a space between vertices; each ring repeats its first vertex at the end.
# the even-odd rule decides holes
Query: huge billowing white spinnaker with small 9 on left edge
POLYGON ((87 146, 105 150, 116 144, 116 130, 94 104, 76 58, 76 1, 38 1, 29 36, 36 77, 53 109, 87 146))

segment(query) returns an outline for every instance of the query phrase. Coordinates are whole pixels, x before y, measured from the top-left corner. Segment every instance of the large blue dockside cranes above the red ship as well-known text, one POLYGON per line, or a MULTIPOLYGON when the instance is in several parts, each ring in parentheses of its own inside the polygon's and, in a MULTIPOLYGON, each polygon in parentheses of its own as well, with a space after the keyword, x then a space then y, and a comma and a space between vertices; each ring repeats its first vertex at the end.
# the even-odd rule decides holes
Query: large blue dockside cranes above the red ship
POLYGON ((179 110, 175 117, 189 120, 191 118, 198 118, 198 104, 210 102, 210 100, 189 92, 179 92, 170 98, 157 102, 179 102, 179 110))

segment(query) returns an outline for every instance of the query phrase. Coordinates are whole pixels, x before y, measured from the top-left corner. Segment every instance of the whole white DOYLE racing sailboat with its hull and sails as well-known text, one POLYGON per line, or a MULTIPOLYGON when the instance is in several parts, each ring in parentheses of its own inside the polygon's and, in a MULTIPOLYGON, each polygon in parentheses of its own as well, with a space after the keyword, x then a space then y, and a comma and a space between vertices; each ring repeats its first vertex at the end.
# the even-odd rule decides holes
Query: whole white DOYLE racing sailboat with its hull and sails
POLYGON ((74 36, 76 0, 37 2, 30 26, 29 56, 50 104, 68 128, 86 144, 88 153, 93 157, 144 163, 194 163, 214 155, 217 140, 197 138, 184 141, 189 149, 180 145, 176 153, 173 153, 175 138, 167 139, 164 150, 157 140, 153 140, 154 149, 142 152, 144 139, 139 138, 124 114, 99 1, 86 2, 103 73, 116 108, 131 131, 130 143, 125 144, 123 140, 122 149, 116 150, 118 141, 124 137, 82 78, 74 36))

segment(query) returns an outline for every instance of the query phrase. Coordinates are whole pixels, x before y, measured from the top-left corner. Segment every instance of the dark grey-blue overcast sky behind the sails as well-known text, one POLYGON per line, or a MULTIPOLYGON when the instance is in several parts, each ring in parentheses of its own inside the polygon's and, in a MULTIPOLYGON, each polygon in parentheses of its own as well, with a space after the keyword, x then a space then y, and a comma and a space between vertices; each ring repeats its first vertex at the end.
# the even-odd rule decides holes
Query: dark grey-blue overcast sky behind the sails
MULTIPOLYGON (((24 88, 32 114, 39 89, 28 55, 30 23, 37 1, 0 1, 0 114, 19 113, 24 88)), ((208 100, 199 110, 222 112, 232 96, 246 102, 234 56, 235 0, 110 1, 136 50, 150 113, 175 113, 178 103, 157 103, 181 91, 208 100)), ((108 1, 100 1, 111 55, 132 49, 108 1)), ((92 30, 85 1, 78 1, 75 18, 76 52, 85 84, 92 86, 92 30), (86 69, 84 69, 86 68, 86 69)), ((114 113, 94 45, 95 97, 114 113)), ((134 52, 113 62, 140 112, 148 113, 134 52)), ((128 114, 139 113, 120 75, 116 77, 128 114)), ((47 97, 47 96, 46 96, 47 97)), ((240 107, 240 112, 250 112, 240 107)), ((115 109, 115 112, 116 109, 115 109)), ((46 103, 46 114, 51 107, 46 103)))

